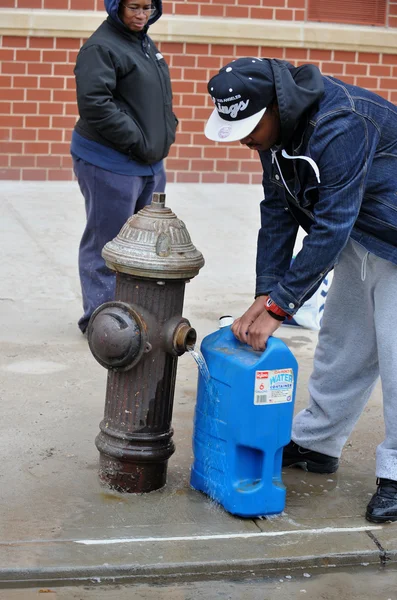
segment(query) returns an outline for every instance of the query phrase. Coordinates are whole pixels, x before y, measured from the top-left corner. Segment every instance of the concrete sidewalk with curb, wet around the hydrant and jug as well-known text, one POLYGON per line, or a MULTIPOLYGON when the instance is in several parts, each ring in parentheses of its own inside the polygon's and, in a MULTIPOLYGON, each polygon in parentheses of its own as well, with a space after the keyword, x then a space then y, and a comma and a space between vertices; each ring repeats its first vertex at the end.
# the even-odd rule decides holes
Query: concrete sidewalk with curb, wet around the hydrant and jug
MULTIPOLYGON (((169 185, 206 266, 186 289, 184 316, 201 340, 254 289, 259 186, 169 185)), ((75 183, 0 185, 0 587, 76 581, 259 576, 287 569, 391 564, 397 524, 364 519, 382 440, 377 388, 334 476, 285 471, 285 513, 243 520, 189 487, 197 371, 179 360, 167 486, 145 496, 101 488, 94 445, 106 371, 77 329, 77 247, 84 224, 75 183)), ((316 333, 283 327, 306 403, 316 333)))

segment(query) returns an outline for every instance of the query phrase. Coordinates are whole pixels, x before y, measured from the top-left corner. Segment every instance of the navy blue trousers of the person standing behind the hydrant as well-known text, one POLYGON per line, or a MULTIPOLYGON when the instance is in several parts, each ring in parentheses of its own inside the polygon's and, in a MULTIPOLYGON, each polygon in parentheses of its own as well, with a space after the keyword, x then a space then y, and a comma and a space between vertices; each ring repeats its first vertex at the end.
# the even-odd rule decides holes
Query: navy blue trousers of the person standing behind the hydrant
POLYGON ((78 326, 84 333, 94 310, 114 299, 116 275, 106 266, 102 248, 131 215, 150 204, 153 192, 164 191, 166 178, 164 171, 153 176, 118 175, 81 159, 73 160, 73 168, 87 215, 79 248, 84 314, 78 326))

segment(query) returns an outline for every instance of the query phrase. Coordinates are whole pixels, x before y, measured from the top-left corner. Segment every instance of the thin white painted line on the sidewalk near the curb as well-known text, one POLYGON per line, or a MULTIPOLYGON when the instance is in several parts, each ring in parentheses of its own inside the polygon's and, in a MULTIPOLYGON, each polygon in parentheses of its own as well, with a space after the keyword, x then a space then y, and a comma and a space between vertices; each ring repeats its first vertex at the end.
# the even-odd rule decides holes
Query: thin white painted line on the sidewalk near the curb
POLYGON ((377 531, 383 529, 376 527, 325 527, 323 529, 294 529, 289 531, 262 531, 260 533, 219 533, 214 535, 184 535, 175 537, 146 537, 146 538, 111 538, 107 540, 75 540, 76 544, 85 546, 102 546, 107 544, 144 544, 145 542, 201 542, 210 540, 235 540, 260 537, 278 537, 296 534, 321 534, 321 533, 356 533, 359 531, 377 531))

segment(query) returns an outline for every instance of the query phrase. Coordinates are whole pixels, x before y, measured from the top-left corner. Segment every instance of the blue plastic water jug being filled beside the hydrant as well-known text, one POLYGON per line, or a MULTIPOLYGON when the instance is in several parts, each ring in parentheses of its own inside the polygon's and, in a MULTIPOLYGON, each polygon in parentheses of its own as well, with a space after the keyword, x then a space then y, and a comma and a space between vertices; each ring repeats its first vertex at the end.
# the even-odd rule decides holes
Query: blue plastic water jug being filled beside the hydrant
POLYGON ((283 448, 291 439, 298 364, 280 339, 256 352, 230 326, 204 338, 190 483, 242 517, 280 513, 283 448))

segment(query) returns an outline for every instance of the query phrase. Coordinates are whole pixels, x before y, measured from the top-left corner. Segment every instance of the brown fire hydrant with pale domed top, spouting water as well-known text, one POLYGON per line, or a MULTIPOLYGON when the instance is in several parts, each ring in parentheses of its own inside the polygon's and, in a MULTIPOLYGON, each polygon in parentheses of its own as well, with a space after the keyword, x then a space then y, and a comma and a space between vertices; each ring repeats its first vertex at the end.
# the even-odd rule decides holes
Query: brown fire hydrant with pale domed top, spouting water
POLYGON ((185 283, 204 265, 165 194, 130 217, 102 251, 116 271, 114 302, 88 325, 88 343, 108 369, 105 415, 95 443, 99 477, 119 492, 151 492, 166 483, 174 453, 171 427, 178 356, 196 331, 182 318, 185 283))

